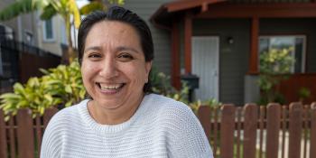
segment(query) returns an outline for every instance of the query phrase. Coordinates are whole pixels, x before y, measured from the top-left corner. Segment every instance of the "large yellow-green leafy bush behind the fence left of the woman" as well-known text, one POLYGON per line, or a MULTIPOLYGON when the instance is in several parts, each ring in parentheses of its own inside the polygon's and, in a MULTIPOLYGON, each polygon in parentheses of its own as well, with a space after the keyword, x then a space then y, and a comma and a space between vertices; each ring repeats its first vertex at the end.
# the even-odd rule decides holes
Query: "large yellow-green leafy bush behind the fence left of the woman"
POLYGON ((42 115, 46 108, 69 107, 85 97, 78 61, 42 72, 45 74, 42 78, 31 78, 25 85, 15 83, 13 93, 0 96, 0 108, 5 111, 6 119, 20 108, 30 108, 33 116, 42 115))

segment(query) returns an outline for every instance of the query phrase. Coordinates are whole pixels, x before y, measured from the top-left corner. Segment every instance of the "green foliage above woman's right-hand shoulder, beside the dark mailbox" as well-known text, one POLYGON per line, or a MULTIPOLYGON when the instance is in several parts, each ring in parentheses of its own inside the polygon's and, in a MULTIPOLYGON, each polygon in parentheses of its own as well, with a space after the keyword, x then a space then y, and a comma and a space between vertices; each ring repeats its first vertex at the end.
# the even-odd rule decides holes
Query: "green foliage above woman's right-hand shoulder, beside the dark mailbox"
POLYGON ((152 68, 150 79, 152 81, 153 93, 173 98, 183 103, 188 103, 189 87, 182 82, 181 90, 172 87, 170 77, 160 72, 155 67, 152 68))

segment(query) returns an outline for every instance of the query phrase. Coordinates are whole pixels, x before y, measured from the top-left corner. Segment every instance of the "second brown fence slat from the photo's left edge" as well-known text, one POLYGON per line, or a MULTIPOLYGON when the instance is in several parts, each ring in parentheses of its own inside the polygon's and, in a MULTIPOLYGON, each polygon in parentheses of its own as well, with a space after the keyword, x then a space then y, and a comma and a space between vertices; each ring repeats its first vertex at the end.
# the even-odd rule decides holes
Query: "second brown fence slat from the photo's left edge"
POLYGON ((17 143, 19 157, 34 157, 33 118, 29 109, 21 109, 17 113, 17 143))

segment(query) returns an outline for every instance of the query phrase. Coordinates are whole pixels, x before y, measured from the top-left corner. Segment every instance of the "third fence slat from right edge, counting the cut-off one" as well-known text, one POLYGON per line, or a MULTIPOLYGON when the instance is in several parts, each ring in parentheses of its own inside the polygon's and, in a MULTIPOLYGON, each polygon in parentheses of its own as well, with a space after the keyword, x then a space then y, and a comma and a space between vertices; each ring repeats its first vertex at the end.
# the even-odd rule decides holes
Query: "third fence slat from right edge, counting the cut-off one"
POLYGON ((277 158, 281 106, 275 103, 269 104, 266 115, 266 157, 277 158))

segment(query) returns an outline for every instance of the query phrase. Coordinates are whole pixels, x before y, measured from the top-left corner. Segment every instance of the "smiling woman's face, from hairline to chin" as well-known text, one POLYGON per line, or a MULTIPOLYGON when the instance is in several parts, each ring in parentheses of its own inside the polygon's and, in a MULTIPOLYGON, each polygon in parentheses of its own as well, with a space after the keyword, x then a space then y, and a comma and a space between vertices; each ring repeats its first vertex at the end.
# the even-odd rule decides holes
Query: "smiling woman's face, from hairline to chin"
POLYGON ((151 65, 145 62, 140 37, 129 24, 102 21, 90 29, 81 73, 94 104, 108 109, 139 104, 151 65))

